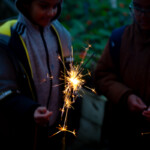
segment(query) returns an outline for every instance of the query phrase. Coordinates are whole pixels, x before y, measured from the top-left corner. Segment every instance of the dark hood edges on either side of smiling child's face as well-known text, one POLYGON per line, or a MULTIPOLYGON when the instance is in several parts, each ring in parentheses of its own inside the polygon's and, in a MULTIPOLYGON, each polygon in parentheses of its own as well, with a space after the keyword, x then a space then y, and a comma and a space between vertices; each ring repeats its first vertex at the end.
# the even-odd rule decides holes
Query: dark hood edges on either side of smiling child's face
MULTIPOLYGON (((19 10, 19 12, 21 12, 23 15, 26 16, 26 14, 24 13, 25 11, 23 10, 23 7, 21 7, 22 6, 21 4, 24 1, 29 1, 29 0, 15 0, 15 5, 16 5, 17 9, 19 10)), ((62 2, 63 2, 63 0, 60 1, 59 5, 58 5, 58 12, 57 12, 56 16, 53 18, 53 20, 56 20, 60 16, 62 2)))

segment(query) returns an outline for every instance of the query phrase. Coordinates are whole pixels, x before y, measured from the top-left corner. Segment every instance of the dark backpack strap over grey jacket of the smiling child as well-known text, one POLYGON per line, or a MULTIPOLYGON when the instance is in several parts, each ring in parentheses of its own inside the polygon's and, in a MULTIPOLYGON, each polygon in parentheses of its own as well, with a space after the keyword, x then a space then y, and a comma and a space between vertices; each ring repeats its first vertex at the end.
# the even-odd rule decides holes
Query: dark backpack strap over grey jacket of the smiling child
POLYGON ((31 96, 33 99, 36 99, 36 91, 34 88, 34 82, 32 79, 32 72, 28 62, 28 58, 24 49, 24 46, 21 42, 19 34, 16 30, 12 30, 12 35, 8 43, 9 48, 13 51, 14 57, 18 61, 19 65, 19 77, 21 84, 24 85, 24 89, 30 89, 25 91, 28 96, 31 96), (16 43, 16 44, 14 44, 16 43))

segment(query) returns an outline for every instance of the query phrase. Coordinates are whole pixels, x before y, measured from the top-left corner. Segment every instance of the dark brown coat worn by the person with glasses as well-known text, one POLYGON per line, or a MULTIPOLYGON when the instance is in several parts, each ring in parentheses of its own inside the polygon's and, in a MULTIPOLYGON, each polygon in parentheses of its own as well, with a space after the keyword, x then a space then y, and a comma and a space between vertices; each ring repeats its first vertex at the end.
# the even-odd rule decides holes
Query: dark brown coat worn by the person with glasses
POLYGON ((108 98, 104 134, 112 149, 145 149, 150 136, 150 123, 141 113, 128 111, 129 94, 139 96, 150 106, 150 34, 142 34, 136 24, 125 28, 121 39, 119 68, 110 54, 109 41, 95 70, 95 86, 108 98), (106 135, 105 135, 106 136, 106 135))

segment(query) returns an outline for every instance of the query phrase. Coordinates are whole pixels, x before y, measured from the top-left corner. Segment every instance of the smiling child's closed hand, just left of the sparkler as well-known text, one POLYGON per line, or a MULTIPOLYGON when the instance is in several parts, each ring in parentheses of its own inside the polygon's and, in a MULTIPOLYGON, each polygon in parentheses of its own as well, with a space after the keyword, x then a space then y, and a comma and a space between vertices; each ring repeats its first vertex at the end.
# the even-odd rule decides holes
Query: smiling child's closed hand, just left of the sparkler
POLYGON ((49 117, 52 115, 52 112, 48 111, 46 107, 38 107, 34 111, 34 120, 40 126, 46 126, 49 117))

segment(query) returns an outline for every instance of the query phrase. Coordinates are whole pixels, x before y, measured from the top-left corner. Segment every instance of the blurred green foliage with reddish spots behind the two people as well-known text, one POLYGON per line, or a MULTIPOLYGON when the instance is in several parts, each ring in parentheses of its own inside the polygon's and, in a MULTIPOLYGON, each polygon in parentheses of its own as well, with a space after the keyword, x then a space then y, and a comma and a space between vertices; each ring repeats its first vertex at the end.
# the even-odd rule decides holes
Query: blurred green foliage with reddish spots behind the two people
POLYGON ((64 1, 60 21, 72 35, 76 63, 80 63, 85 47, 91 44, 92 48, 88 51, 86 59, 93 53, 95 55, 86 68, 93 70, 111 31, 130 23, 129 2, 130 0, 118 0, 118 7, 114 9, 108 0, 64 1))

